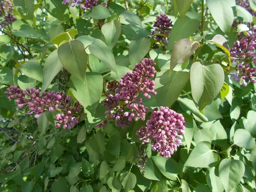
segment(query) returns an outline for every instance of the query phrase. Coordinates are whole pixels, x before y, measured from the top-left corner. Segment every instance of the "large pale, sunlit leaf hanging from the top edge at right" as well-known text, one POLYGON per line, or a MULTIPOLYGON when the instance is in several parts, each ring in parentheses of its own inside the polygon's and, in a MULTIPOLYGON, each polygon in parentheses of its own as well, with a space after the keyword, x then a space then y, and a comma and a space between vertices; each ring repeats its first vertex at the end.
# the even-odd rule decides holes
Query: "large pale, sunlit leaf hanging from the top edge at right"
POLYGON ((234 14, 232 7, 236 6, 235 0, 206 0, 213 19, 224 33, 230 32, 234 14))

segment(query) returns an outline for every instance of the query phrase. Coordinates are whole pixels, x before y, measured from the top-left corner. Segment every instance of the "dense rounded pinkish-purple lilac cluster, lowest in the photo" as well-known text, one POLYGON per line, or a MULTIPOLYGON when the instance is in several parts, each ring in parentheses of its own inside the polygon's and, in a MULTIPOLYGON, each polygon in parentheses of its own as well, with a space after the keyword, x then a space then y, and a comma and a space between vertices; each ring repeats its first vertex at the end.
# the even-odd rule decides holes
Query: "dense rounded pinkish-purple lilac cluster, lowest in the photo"
POLYGON ((177 147, 181 145, 185 133, 184 117, 180 113, 160 107, 160 111, 154 108, 151 118, 142 126, 137 135, 145 143, 151 140, 151 149, 160 152, 160 156, 170 158, 177 147))

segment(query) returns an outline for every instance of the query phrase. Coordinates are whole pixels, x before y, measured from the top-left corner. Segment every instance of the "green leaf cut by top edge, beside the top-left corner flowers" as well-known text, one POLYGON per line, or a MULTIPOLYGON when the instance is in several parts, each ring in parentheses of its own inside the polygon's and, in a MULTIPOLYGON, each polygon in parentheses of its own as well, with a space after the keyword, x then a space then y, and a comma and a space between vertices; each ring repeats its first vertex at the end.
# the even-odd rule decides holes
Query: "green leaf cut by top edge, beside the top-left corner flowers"
POLYGON ((34 0, 13 0, 15 8, 25 20, 33 20, 34 0))

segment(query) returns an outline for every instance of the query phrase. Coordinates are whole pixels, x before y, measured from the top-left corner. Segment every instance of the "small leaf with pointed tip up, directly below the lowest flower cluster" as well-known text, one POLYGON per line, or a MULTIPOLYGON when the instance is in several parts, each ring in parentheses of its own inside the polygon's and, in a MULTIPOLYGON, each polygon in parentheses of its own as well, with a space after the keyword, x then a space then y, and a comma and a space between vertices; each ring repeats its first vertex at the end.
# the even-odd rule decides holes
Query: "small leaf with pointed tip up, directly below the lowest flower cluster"
POLYGON ((150 180, 161 180, 161 173, 151 158, 147 158, 144 177, 150 180))

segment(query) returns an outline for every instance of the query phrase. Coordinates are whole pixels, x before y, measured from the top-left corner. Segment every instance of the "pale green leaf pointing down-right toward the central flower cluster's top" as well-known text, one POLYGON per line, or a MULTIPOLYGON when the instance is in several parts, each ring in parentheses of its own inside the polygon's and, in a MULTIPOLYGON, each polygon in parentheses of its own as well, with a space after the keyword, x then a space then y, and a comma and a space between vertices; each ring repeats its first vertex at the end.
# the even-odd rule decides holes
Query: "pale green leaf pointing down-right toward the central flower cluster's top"
POLYGON ((101 40, 95 39, 89 47, 90 52, 112 71, 116 72, 116 61, 111 49, 101 40))

